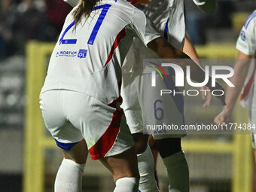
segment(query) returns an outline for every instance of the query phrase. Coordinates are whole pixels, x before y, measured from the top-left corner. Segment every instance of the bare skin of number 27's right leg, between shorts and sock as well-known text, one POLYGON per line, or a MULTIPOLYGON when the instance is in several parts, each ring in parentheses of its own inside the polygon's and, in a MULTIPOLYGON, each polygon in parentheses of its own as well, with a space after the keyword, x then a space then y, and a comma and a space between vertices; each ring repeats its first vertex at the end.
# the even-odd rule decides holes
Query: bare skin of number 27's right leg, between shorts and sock
POLYGON ((124 177, 139 178, 138 160, 134 148, 130 148, 121 154, 100 159, 113 174, 114 181, 124 177))

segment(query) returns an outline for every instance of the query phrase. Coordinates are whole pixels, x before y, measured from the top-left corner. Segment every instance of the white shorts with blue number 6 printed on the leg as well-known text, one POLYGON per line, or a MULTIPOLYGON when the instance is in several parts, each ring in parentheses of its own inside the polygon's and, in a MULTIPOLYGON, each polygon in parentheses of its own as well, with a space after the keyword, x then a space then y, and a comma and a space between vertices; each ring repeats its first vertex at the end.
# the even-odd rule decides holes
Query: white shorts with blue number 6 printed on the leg
MULTIPOLYGON (((175 98, 168 94, 160 96, 160 90, 166 90, 166 86, 169 85, 163 81, 159 82, 162 84, 158 84, 152 89, 150 86, 151 74, 123 74, 122 108, 130 131, 131 133, 152 134, 154 139, 186 136, 185 131, 154 130, 157 125, 169 126, 173 124, 180 127, 184 124, 182 96, 175 98), (153 129, 148 130, 149 126, 153 129)), ((168 87, 168 89, 172 88, 168 87)))

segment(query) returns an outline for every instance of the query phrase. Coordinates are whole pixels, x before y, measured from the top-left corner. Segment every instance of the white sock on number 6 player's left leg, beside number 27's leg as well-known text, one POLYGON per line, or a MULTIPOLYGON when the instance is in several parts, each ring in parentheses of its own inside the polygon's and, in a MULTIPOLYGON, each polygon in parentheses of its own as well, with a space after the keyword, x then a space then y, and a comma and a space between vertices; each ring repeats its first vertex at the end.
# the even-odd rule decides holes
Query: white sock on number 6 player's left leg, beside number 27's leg
POLYGON ((139 191, 158 192, 157 182, 154 178, 154 157, 147 146, 142 154, 137 154, 139 167, 139 191))

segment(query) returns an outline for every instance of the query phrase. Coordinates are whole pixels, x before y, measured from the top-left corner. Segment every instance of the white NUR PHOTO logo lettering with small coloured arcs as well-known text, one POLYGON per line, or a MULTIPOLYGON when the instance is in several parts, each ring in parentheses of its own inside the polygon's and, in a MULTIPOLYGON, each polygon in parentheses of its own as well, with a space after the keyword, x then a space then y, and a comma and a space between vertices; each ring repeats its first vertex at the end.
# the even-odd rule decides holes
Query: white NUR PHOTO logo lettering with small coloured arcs
MULTIPOLYGON (((159 62, 158 62, 159 63, 159 62)), ((177 62, 176 62, 177 63, 177 62)), ((148 66, 151 70, 151 87, 157 86, 158 79, 162 81, 174 81, 175 87, 181 87, 182 91, 177 91, 177 89, 161 89, 160 96, 163 94, 182 94, 183 96, 199 96, 202 92, 205 96, 207 92, 212 93, 212 96, 223 96, 224 90, 207 90, 200 89, 200 87, 205 87, 210 85, 211 87, 216 87, 217 81, 224 81, 225 84, 229 87, 235 87, 232 82, 229 80, 234 75, 234 70, 230 66, 205 66, 205 77, 204 81, 196 82, 192 80, 191 67, 186 66, 185 70, 181 66, 172 62, 163 62, 157 64, 157 62, 148 61, 148 66), (157 76, 160 78, 157 78, 157 76), (185 81, 190 87, 195 89, 185 90, 185 81), (209 84, 211 83, 211 84, 209 84), (197 89, 196 89, 197 88, 197 89)))

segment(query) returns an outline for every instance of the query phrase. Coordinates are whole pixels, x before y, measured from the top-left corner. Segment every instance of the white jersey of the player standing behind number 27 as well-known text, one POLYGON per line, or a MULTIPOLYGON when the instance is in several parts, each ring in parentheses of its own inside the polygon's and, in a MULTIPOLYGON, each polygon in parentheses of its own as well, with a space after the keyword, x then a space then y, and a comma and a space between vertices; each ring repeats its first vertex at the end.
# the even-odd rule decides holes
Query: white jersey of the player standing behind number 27
MULTIPOLYGON (((159 32, 169 44, 178 50, 183 50, 185 38, 185 18, 184 18, 184 0, 151 0, 145 5, 139 5, 139 8, 151 20, 154 29, 159 32)), ((158 58, 158 56, 145 47, 144 44, 135 40, 133 42, 133 51, 127 56, 127 61, 123 66, 123 73, 144 72, 142 69, 144 59, 158 58), (134 62, 135 60, 135 62, 134 62)))

